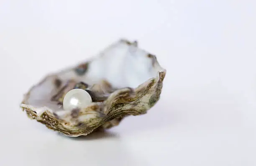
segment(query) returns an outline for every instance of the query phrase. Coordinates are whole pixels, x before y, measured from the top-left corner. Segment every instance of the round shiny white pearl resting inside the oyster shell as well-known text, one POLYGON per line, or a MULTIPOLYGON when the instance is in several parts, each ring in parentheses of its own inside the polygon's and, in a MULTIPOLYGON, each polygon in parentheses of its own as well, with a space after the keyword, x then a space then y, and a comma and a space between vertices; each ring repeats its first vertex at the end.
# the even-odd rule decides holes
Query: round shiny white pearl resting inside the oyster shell
POLYGON ((63 99, 64 110, 73 110, 75 108, 85 108, 92 102, 92 97, 83 89, 72 89, 63 99))

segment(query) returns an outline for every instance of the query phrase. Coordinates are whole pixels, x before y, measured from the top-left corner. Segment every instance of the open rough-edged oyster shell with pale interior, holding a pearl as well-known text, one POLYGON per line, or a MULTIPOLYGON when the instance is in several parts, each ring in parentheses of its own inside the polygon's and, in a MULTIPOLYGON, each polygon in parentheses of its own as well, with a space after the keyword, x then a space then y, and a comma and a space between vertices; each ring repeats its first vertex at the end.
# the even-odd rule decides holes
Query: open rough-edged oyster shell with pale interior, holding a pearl
POLYGON ((137 42, 120 40, 98 56, 45 77, 21 103, 28 117, 64 135, 77 137, 118 125, 128 115, 145 114, 159 100, 166 70, 137 42), (63 109, 65 94, 84 89, 87 107, 63 109))

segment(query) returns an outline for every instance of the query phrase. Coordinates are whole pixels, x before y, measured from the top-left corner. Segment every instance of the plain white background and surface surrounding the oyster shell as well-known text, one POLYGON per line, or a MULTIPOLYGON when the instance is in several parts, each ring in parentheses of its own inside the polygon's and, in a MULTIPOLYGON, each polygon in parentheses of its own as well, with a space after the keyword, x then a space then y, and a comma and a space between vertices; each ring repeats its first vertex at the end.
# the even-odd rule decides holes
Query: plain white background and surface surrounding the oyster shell
POLYGON ((0 0, 1 166, 255 166, 255 0, 0 0), (49 72, 119 38, 166 68, 161 100, 68 138, 19 104, 49 72))

